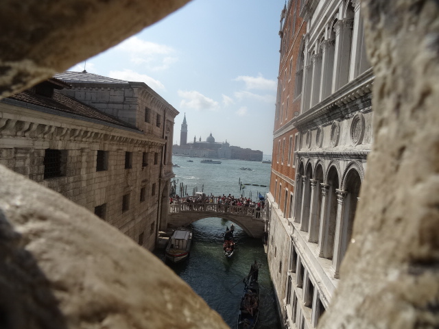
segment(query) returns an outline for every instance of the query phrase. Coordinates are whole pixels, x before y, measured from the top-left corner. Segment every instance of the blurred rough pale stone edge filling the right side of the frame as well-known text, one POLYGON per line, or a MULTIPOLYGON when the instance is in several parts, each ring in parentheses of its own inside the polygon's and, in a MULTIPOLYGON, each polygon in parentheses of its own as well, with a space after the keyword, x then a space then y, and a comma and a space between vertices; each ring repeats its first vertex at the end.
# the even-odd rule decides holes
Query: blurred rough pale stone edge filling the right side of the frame
POLYGON ((439 327, 439 3, 364 0, 374 145, 318 328, 439 327))

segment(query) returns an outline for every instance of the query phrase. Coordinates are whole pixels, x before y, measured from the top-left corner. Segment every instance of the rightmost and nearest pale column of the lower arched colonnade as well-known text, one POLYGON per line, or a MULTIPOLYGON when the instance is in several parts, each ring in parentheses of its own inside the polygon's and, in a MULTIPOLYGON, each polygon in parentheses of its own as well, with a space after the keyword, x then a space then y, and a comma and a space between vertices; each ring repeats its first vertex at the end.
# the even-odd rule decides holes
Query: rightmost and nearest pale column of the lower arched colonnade
POLYGON ((346 191, 335 190, 337 195, 337 223, 335 226, 335 241, 334 241, 334 254, 332 258, 332 266, 334 269, 334 278, 339 278, 340 264, 342 263, 343 252, 343 239, 344 230, 346 226, 345 212, 346 212, 346 197, 348 193, 346 191))

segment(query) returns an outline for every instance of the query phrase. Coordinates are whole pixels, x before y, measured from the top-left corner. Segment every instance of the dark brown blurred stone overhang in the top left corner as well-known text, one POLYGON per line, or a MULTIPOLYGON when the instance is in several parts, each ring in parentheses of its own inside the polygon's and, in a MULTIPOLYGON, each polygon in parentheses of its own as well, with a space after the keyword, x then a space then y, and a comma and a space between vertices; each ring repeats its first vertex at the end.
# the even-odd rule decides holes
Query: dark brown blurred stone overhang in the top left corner
POLYGON ((0 3, 0 97, 116 45, 189 0, 0 3))

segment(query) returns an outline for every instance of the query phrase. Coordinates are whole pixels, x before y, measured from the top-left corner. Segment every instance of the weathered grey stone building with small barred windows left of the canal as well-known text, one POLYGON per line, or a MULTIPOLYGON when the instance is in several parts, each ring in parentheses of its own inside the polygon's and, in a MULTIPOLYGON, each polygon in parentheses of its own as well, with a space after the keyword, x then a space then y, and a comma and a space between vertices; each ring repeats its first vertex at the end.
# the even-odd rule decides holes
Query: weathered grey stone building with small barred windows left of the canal
POLYGON ((0 101, 0 163, 147 249, 166 228, 178 112, 146 84, 66 72, 0 101))

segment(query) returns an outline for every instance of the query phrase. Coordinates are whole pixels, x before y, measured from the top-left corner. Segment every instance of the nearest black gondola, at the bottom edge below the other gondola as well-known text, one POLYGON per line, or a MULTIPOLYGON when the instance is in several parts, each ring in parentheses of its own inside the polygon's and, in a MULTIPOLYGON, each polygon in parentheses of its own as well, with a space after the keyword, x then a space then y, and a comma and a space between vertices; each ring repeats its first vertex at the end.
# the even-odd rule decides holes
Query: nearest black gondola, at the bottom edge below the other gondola
POLYGON ((259 315, 259 283, 252 276, 244 279, 244 292, 239 304, 237 329, 254 329, 259 315))

